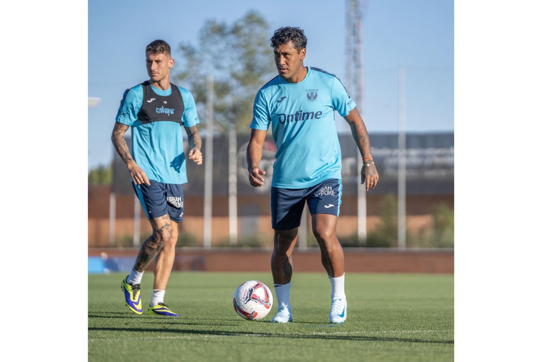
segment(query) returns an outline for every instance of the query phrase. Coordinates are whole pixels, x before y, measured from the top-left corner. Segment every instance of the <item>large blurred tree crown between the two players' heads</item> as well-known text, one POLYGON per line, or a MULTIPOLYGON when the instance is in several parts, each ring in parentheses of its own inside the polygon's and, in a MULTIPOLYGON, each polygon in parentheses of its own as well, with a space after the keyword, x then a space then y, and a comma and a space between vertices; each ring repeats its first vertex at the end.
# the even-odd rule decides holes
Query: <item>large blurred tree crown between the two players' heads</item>
POLYGON ((214 124, 220 132, 230 125, 249 131, 256 93, 277 74, 270 36, 266 20, 250 10, 231 24, 207 20, 199 31, 198 45, 179 45, 180 71, 174 79, 192 92, 200 119, 205 120, 206 78, 213 74, 214 124))

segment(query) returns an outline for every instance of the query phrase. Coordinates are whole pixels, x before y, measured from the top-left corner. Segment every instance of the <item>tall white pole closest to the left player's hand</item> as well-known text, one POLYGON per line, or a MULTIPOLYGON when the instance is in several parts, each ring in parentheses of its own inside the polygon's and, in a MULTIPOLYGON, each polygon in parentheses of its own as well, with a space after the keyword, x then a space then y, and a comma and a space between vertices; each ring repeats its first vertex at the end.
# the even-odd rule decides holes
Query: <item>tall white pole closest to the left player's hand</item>
POLYGON ((204 247, 211 248, 213 198, 213 74, 206 79, 206 135, 204 161, 204 247))

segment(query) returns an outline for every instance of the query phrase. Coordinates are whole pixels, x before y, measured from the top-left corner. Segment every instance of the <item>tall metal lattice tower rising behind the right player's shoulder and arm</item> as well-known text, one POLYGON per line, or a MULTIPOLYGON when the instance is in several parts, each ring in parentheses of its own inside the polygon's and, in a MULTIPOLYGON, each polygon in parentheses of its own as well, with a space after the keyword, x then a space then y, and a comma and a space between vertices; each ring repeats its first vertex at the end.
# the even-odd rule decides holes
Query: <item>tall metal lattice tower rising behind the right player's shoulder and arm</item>
MULTIPOLYGON (((362 19, 367 7, 365 0, 346 0, 346 88, 356 102, 358 112, 364 119, 364 58, 362 52, 362 19)), ((362 168, 362 157, 358 155, 357 169, 362 168)), ((365 185, 358 183, 358 242, 365 245, 366 231, 366 191, 365 185)))

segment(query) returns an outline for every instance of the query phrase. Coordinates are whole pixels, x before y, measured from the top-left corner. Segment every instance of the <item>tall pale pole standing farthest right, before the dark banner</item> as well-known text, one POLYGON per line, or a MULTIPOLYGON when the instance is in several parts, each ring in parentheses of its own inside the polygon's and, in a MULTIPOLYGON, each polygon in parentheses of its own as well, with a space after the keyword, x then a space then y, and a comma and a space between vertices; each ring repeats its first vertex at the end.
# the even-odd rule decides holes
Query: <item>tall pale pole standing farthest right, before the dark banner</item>
POLYGON ((398 247, 406 247, 406 68, 398 72, 398 247))

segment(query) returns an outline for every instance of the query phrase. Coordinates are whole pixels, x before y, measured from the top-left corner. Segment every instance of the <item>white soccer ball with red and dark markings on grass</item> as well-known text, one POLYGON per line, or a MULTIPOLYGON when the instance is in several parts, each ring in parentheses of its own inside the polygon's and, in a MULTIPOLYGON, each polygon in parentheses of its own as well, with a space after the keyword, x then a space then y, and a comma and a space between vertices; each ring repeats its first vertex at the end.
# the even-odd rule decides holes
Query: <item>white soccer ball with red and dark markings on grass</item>
POLYGON ((250 280, 236 289, 233 303, 234 310, 243 319, 259 320, 270 312, 273 296, 266 284, 250 280))

